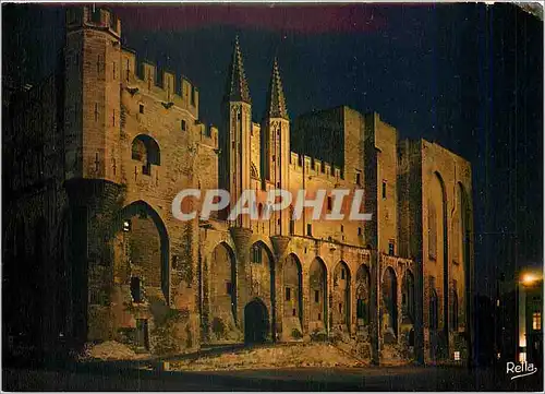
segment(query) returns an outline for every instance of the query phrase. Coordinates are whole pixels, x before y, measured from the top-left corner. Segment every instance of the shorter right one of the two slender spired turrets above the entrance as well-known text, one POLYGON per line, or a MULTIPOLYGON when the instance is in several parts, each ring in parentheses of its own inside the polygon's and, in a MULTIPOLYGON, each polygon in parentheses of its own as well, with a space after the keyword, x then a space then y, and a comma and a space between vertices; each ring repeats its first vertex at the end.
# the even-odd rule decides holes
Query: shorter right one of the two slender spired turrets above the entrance
MULTIPOLYGON (((287 189, 290 166, 290 120, 278 60, 275 58, 262 121, 262 168, 271 189, 287 189)), ((289 211, 275 212, 275 234, 289 235, 289 211)))

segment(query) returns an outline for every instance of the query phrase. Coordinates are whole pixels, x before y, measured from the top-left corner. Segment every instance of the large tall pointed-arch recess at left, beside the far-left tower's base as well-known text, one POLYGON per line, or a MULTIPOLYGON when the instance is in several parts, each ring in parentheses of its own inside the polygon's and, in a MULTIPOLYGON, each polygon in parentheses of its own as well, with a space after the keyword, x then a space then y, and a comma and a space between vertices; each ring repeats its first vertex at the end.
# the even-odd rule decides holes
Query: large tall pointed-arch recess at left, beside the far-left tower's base
MULTIPOLYGON (((138 200, 124 206, 110 227, 113 234, 113 283, 97 283, 89 288, 93 306, 123 305, 125 300, 148 308, 147 302, 159 299, 162 306, 170 302, 169 238, 161 217, 148 203, 138 200)), ((108 255, 108 249, 101 254, 108 255)), ((142 350, 149 349, 153 313, 137 313, 114 308, 120 329, 128 330, 134 344, 142 350), (125 313, 134 319, 130 324, 125 313), (149 320, 149 321, 148 321, 149 320)), ((100 320, 89 321, 89 332, 100 326, 100 320)), ((101 335, 101 334, 100 334, 101 335)))

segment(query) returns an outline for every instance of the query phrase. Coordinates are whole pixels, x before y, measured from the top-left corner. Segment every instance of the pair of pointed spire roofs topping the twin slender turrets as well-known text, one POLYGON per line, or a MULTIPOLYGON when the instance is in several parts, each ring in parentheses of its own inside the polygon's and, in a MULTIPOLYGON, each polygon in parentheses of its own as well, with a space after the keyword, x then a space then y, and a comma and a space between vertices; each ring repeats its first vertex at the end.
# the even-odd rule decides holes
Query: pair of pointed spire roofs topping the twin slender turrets
MULTIPOLYGON (((250 88, 244 73, 244 64, 242 63, 239 36, 237 36, 234 40, 233 57, 227 81, 226 98, 232 102, 252 104, 250 88)), ((270 76, 264 118, 282 118, 289 120, 277 58, 275 58, 272 64, 272 75, 270 76)))

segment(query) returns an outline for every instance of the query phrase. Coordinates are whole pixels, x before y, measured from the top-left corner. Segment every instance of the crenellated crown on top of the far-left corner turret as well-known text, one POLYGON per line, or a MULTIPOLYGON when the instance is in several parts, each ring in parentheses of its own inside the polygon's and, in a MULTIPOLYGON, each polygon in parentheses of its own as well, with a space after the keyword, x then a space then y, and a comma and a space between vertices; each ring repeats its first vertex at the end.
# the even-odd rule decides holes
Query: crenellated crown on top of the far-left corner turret
POLYGON ((110 10, 102 7, 74 7, 66 11, 66 29, 74 31, 82 27, 93 27, 121 37, 121 21, 110 10))

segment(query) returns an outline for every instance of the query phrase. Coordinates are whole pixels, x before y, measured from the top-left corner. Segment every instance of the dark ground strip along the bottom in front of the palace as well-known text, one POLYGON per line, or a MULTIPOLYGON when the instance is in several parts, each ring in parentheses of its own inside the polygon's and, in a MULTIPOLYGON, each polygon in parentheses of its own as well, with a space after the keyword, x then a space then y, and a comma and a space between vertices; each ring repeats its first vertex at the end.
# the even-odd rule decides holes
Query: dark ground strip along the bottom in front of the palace
POLYGON ((542 373, 440 367, 179 372, 100 362, 71 370, 3 369, 4 391, 542 391, 542 373))

